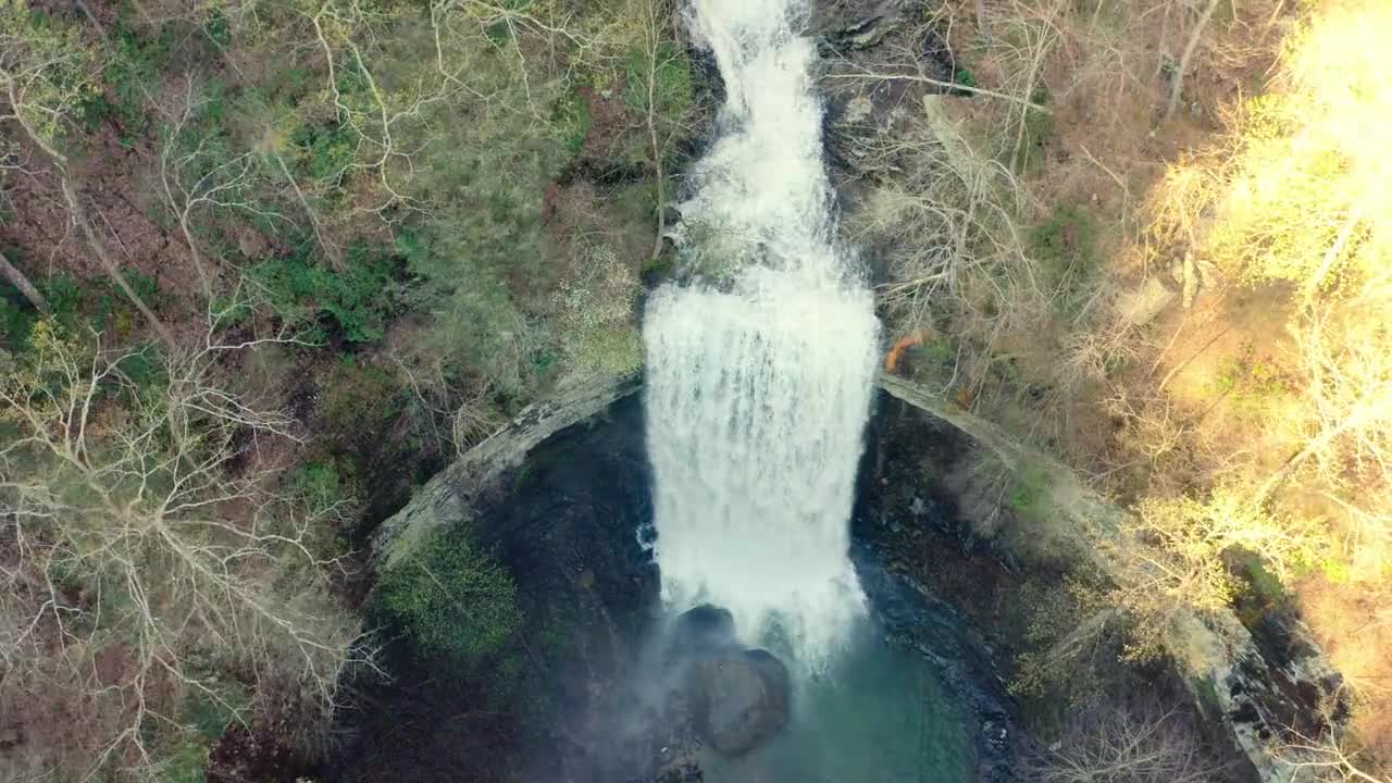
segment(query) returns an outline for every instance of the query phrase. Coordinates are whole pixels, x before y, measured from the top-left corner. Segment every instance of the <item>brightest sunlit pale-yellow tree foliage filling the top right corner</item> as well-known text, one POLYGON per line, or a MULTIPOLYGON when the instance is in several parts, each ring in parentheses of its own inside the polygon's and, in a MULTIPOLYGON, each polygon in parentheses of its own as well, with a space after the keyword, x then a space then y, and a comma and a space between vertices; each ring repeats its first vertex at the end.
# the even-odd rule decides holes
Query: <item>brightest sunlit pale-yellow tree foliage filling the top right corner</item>
POLYGON ((1288 36, 1271 92, 1229 117, 1231 155, 1173 164, 1151 203, 1162 237, 1228 274, 1311 294, 1392 265, 1392 6, 1324 6, 1288 36))

